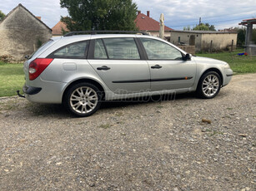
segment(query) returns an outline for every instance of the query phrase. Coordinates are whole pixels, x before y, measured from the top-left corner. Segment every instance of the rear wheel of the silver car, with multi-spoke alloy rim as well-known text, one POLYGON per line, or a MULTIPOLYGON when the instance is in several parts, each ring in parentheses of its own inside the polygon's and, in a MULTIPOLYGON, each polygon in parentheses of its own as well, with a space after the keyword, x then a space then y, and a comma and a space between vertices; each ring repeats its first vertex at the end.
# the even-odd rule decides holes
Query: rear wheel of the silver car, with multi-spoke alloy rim
POLYGON ((63 103, 78 117, 93 115, 101 105, 103 93, 93 84, 82 82, 68 89, 63 103))

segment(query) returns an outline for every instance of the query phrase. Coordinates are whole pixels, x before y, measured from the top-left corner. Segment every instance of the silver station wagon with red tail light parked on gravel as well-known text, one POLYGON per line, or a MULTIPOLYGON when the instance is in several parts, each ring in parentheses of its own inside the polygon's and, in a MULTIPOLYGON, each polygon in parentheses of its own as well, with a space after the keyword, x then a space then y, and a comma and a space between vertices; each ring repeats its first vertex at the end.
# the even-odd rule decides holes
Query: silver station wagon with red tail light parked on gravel
POLYGON ((84 33, 53 37, 25 61, 28 100, 88 116, 103 100, 189 91, 213 98, 233 76, 228 63, 191 56, 158 37, 84 33))

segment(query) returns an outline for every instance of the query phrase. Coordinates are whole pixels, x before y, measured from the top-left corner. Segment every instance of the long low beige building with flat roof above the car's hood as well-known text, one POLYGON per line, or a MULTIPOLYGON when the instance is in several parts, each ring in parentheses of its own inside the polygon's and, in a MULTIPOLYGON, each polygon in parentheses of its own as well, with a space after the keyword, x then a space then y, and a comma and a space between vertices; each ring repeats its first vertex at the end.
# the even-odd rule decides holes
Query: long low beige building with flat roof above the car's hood
POLYGON ((195 51, 221 51, 237 45, 237 32, 171 31, 175 45, 195 46, 195 51))

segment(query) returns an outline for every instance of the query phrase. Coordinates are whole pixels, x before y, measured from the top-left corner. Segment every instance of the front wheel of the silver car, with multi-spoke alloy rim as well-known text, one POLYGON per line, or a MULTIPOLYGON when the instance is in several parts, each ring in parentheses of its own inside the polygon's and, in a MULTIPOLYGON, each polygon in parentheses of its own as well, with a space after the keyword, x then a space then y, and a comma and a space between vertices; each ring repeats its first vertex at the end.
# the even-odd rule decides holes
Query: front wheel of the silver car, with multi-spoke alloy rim
POLYGON ((208 71, 207 73, 203 74, 198 82, 198 97, 203 99, 211 99, 217 96, 221 83, 221 78, 216 71, 208 71))

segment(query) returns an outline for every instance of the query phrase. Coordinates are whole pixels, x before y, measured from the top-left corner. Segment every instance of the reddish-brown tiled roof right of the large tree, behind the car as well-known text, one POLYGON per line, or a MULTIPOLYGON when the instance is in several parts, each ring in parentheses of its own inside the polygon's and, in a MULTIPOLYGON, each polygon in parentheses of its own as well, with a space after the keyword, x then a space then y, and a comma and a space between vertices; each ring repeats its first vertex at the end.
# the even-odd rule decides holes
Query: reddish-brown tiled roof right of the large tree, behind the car
MULTIPOLYGON (((144 15, 143 13, 138 13, 137 18, 135 19, 136 26, 140 31, 159 31, 160 22, 153 20, 153 18, 144 15)), ((164 31, 173 30, 170 27, 164 26, 164 31)))

